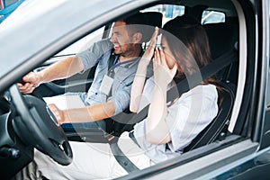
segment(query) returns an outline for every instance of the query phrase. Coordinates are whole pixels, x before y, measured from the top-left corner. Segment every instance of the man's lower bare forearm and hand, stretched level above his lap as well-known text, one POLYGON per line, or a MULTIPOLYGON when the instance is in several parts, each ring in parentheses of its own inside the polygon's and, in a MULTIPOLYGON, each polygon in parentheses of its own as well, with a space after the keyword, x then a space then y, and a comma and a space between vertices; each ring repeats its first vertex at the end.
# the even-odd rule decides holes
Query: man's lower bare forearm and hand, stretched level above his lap
POLYGON ((55 104, 49 104, 49 108, 55 114, 60 124, 100 121, 112 117, 115 113, 115 105, 113 102, 100 103, 85 108, 63 111, 59 110, 55 104))

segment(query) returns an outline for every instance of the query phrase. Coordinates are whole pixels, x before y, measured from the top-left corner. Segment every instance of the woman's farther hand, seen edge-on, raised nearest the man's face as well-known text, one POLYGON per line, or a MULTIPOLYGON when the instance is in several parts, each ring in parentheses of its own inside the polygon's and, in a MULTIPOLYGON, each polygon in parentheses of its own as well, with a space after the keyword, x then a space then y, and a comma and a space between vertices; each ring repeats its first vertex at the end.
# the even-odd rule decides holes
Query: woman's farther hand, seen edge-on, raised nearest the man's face
POLYGON ((155 31, 151 37, 150 43, 148 45, 148 49, 144 52, 142 58, 140 58, 140 62, 144 62, 145 65, 148 66, 151 58, 154 56, 154 51, 157 44, 157 35, 158 35, 158 28, 155 28, 155 31))

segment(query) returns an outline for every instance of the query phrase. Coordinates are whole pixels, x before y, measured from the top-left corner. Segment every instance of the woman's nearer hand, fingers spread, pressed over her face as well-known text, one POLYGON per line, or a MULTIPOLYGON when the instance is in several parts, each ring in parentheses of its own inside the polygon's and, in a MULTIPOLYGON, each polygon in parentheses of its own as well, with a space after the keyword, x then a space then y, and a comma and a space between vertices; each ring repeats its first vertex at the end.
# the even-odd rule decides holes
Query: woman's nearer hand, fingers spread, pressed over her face
POLYGON ((166 64, 166 56, 163 49, 156 49, 153 60, 154 77, 157 85, 168 85, 174 78, 177 65, 171 69, 166 64))

